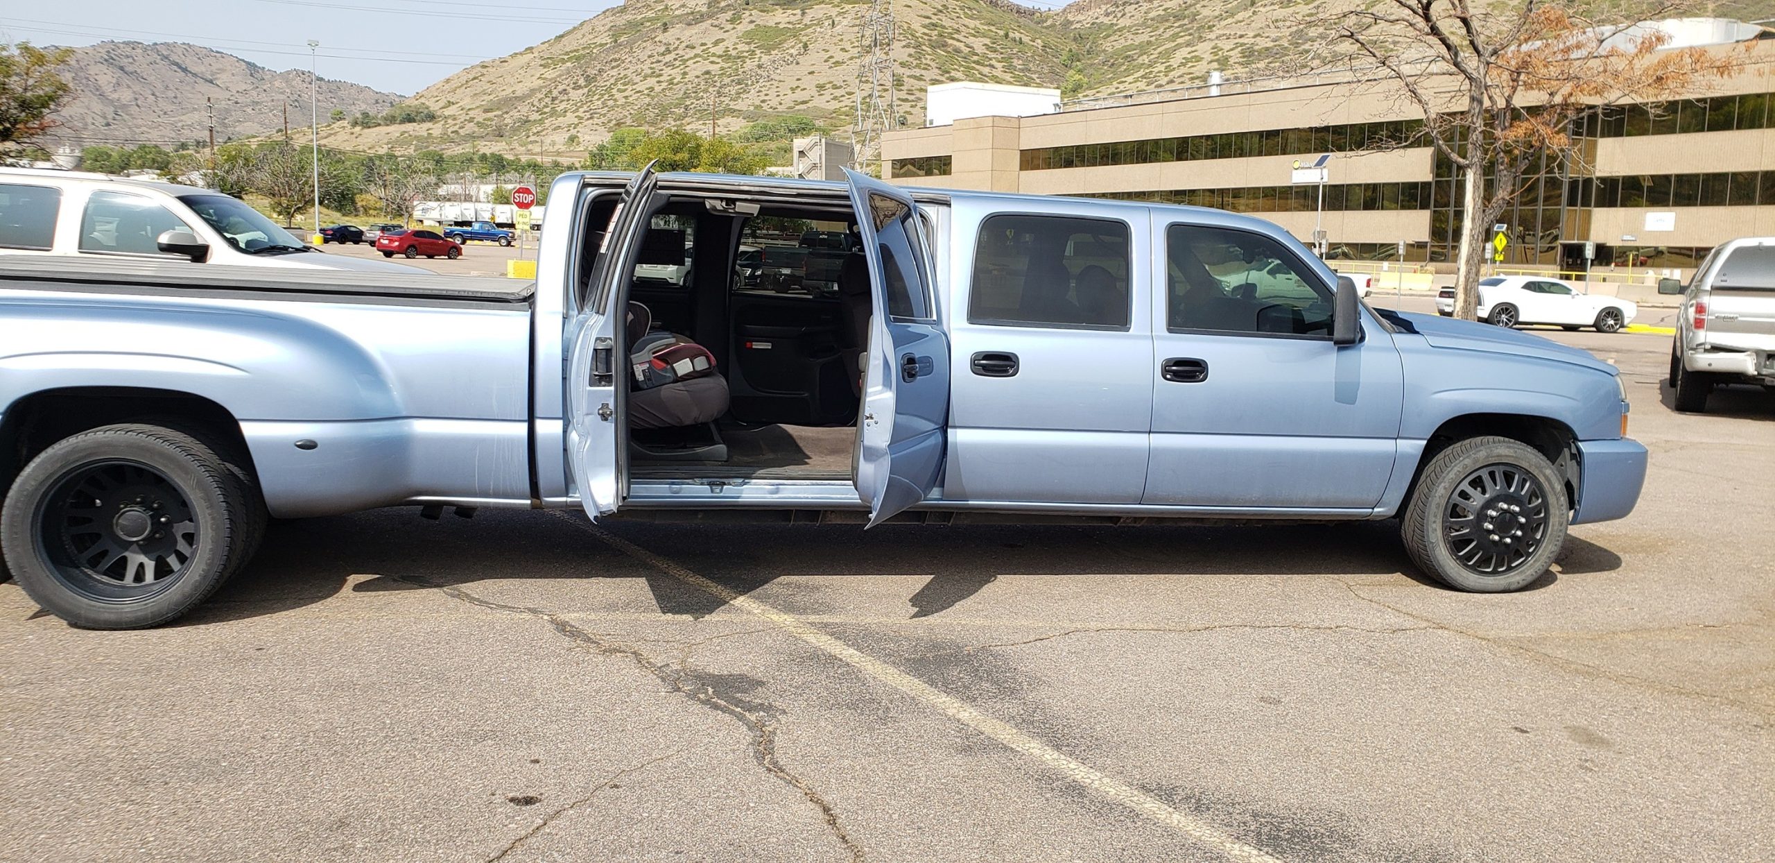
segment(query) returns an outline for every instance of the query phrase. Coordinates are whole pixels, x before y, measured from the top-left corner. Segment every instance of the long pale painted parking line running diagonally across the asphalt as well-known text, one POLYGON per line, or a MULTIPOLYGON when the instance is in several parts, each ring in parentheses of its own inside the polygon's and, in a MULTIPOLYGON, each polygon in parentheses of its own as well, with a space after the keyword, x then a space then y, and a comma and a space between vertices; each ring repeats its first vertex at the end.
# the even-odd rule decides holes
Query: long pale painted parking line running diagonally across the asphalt
POLYGON ((1147 819, 1164 824, 1166 827, 1172 827, 1202 845, 1219 851, 1230 859, 1250 861, 1250 863, 1280 863, 1280 859, 1271 856, 1269 852, 1255 845, 1239 842, 1230 835, 1227 835, 1225 831, 1221 831, 1219 827, 1193 815, 1187 815, 1184 812, 1179 812, 1170 804, 1166 804, 1164 801, 1152 797, 1150 794, 1122 780, 1108 776, 1102 771, 1088 764, 1083 764, 1069 756, 1067 753, 1061 753, 1060 749, 1054 749, 1053 746, 1047 746, 1045 742, 1017 730, 1015 726, 1005 723, 1003 719, 987 716, 978 709, 974 709, 973 705, 955 696, 950 696, 939 691, 937 687, 912 675, 907 675, 905 671, 900 671, 898 668, 889 666, 880 659, 863 653, 857 648, 845 645, 843 641, 838 641, 836 637, 827 636, 825 632, 820 632, 818 629, 797 618, 795 614, 790 614, 786 611, 781 611, 774 606, 754 600, 751 597, 735 593, 703 575, 698 575, 673 563, 671 559, 653 554, 591 522, 559 511, 554 511, 550 515, 577 524, 579 527, 589 531, 593 536, 602 540, 605 545, 611 545, 612 549, 628 554, 630 558, 635 558, 637 561, 646 563, 655 570, 660 570, 685 584, 690 584, 712 597, 717 597, 737 609, 744 609, 747 613, 769 620, 770 623, 776 623, 788 634, 824 650, 825 653, 843 661, 845 664, 856 668, 857 671, 863 671, 864 675, 880 680, 923 701, 927 707, 943 712, 944 716, 1008 746, 1010 749, 1015 749, 1022 755, 1028 755, 1049 765, 1056 772, 1063 774, 1065 778, 1072 780, 1074 783, 1085 787, 1092 794, 1109 803, 1116 803, 1127 810, 1145 815, 1147 819))

